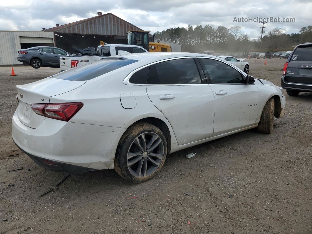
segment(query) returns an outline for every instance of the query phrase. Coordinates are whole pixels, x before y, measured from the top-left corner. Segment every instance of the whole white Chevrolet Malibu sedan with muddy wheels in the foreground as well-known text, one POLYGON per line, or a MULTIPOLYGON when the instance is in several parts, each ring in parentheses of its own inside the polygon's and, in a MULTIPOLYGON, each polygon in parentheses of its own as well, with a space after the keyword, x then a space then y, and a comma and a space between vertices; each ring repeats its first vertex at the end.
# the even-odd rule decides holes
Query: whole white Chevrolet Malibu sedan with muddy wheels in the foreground
POLYGON ((215 56, 108 57, 17 85, 12 138, 49 170, 114 168, 140 183, 169 153, 251 128, 271 133, 281 89, 215 56))

